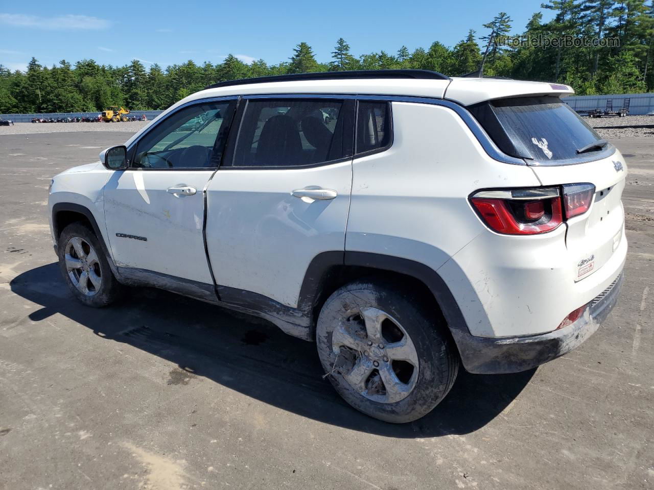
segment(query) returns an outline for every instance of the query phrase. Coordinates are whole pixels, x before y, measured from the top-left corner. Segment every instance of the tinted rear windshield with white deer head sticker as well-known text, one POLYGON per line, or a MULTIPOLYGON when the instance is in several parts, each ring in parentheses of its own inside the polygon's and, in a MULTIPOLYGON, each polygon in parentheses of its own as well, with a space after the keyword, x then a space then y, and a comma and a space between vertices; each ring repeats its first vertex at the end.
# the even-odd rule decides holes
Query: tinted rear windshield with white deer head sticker
POLYGON ((513 157, 566 160, 578 157, 578 149, 600 139, 559 97, 500 99, 469 109, 498 148, 513 157))

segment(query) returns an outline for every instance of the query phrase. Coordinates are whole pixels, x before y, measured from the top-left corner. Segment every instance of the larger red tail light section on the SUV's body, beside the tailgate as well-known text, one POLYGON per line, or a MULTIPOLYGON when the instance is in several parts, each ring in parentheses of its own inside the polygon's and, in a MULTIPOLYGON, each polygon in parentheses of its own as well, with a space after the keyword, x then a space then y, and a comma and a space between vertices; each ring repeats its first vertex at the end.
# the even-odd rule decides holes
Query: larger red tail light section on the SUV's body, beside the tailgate
POLYGON ((545 233, 563 221, 558 188, 479 191, 470 201, 490 229, 506 235, 545 233))

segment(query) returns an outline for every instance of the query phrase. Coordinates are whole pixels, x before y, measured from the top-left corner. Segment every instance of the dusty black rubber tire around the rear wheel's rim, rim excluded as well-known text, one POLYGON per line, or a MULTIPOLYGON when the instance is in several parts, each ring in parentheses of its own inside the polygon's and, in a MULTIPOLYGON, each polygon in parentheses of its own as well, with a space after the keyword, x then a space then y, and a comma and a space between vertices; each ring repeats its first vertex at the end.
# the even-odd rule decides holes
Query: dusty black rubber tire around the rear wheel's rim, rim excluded
MULTIPOLYGON (((458 355, 449 336, 440 329, 436 315, 421 302, 403 295, 384 282, 355 282, 334 292, 322 306, 317 323, 317 348, 320 363, 330 372, 336 391, 360 412, 392 423, 410 422, 428 414, 447 395, 458 372, 458 355), (391 403, 375 402, 360 395, 334 369, 332 333, 353 308, 379 308, 395 318, 411 337, 419 358, 418 379, 404 399, 391 403)), ((447 327, 445 327, 447 328, 447 327)))

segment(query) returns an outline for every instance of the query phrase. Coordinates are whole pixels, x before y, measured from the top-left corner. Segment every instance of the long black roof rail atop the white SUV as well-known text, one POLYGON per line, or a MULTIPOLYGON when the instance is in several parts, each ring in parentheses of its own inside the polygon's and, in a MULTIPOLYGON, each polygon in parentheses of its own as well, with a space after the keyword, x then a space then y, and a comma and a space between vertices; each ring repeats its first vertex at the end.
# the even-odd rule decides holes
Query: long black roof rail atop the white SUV
POLYGON ((287 75, 256 76, 209 85, 208 88, 233 85, 263 84, 266 82, 294 82, 297 80, 351 80, 353 78, 414 78, 417 80, 449 80, 449 76, 430 70, 353 70, 318 71, 314 73, 292 73, 287 75))

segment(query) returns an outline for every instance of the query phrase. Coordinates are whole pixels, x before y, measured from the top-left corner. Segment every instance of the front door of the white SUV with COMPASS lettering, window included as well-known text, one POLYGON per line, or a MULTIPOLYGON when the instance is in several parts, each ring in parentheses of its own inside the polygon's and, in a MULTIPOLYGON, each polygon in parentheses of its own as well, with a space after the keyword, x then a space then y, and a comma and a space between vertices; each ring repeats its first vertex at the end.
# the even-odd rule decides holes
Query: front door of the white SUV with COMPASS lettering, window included
POLYGON ((129 169, 105 186, 118 267, 213 284, 203 239, 204 191, 220 162, 234 100, 186 106, 129 148, 129 169))

